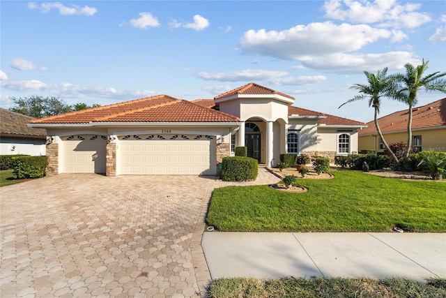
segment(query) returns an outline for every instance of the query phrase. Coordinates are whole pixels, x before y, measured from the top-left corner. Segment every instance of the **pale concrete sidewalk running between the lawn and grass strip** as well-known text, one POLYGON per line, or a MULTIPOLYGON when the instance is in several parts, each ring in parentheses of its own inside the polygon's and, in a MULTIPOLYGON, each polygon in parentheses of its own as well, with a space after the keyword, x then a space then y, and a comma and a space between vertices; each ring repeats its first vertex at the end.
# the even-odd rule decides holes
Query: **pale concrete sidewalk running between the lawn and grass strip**
POLYGON ((210 275, 446 277, 446 234, 205 232, 210 275))

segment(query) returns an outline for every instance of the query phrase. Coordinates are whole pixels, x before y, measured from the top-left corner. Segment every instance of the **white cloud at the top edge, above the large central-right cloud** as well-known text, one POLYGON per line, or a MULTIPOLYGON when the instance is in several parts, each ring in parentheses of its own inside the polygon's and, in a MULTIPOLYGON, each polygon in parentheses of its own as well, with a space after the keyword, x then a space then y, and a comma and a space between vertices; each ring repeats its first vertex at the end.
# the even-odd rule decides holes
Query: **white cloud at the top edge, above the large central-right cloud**
POLYGON ((419 13, 420 3, 399 3, 395 0, 351 1, 328 0, 323 4, 325 17, 380 27, 415 28, 430 22, 427 13, 419 13))

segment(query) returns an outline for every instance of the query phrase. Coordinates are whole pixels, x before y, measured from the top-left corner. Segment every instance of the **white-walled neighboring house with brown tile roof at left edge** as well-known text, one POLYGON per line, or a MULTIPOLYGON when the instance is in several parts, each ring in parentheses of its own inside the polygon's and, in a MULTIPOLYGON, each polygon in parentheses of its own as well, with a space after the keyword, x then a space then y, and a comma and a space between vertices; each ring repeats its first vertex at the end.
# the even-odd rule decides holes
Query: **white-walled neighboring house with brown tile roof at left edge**
POLYGON ((0 108, 0 155, 45 156, 47 132, 26 126, 32 119, 0 108))

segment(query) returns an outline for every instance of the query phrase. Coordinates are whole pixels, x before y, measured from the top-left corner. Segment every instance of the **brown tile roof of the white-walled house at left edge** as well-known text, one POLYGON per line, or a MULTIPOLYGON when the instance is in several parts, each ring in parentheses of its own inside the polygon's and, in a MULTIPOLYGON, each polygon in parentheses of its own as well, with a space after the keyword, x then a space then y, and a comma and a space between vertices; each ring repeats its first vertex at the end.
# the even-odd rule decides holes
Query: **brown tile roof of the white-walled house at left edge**
POLYGON ((32 119, 33 117, 0 108, 0 136, 45 138, 46 129, 26 126, 32 119))

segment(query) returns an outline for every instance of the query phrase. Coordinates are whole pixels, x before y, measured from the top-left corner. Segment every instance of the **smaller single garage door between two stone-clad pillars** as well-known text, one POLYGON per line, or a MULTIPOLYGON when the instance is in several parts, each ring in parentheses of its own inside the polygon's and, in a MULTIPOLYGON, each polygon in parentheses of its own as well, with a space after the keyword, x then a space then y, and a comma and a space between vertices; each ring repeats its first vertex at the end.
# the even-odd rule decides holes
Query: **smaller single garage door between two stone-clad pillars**
POLYGON ((64 173, 105 173, 105 135, 63 137, 64 173))

